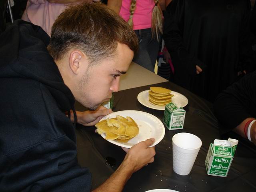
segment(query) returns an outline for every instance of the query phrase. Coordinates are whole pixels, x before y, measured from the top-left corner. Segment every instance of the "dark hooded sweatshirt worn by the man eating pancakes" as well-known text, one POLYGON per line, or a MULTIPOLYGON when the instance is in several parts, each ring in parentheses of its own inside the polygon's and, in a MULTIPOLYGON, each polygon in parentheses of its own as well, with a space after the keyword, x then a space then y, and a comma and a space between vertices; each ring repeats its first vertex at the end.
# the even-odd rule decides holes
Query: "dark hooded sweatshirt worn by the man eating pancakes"
POLYGON ((49 40, 22 20, 0 35, 1 192, 90 190, 65 115, 75 99, 46 49, 49 40))

